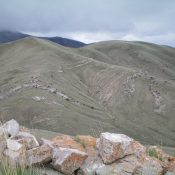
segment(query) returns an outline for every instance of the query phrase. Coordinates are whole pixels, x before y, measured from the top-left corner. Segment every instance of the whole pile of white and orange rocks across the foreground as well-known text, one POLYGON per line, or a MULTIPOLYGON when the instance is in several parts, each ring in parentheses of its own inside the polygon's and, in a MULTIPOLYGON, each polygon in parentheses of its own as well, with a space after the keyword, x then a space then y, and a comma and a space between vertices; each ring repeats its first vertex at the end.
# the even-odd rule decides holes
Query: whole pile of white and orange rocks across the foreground
POLYGON ((101 133, 98 139, 58 135, 37 140, 15 120, 0 127, 0 155, 12 166, 50 164, 65 175, 175 174, 175 157, 155 146, 146 149, 126 135, 101 133))

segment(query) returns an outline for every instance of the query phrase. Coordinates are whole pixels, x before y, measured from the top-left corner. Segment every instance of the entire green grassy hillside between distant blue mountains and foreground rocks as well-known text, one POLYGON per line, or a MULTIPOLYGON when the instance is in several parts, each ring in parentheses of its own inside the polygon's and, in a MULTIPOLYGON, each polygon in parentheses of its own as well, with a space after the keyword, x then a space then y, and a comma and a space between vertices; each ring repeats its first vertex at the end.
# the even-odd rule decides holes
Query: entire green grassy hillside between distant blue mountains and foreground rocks
POLYGON ((122 132, 175 144, 175 49, 111 41, 70 49, 26 38, 0 45, 4 120, 68 134, 122 132))

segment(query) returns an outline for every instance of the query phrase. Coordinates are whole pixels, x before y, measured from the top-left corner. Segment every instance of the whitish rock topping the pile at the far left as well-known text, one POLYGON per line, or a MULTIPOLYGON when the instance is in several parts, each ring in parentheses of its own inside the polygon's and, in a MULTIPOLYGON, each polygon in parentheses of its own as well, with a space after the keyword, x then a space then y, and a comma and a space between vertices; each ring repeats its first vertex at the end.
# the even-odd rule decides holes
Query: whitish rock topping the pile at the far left
POLYGON ((8 122, 6 122, 2 128, 5 132, 7 132, 8 136, 15 136, 19 132, 19 124, 16 120, 12 119, 8 122))

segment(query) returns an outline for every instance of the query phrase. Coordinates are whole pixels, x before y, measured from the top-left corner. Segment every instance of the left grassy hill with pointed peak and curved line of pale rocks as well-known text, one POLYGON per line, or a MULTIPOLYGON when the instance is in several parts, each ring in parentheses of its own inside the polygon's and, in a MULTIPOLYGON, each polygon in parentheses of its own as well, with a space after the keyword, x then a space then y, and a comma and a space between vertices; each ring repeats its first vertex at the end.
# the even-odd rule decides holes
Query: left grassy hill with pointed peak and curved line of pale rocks
POLYGON ((93 132, 108 114, 89 96, 71 68, 88 58, 41 39, 0 46, 0 110, 30 127, 64 133, 93 132), (34 125, 34 126, 33 126, 34 125))

